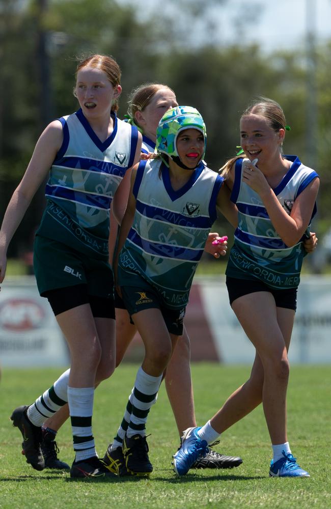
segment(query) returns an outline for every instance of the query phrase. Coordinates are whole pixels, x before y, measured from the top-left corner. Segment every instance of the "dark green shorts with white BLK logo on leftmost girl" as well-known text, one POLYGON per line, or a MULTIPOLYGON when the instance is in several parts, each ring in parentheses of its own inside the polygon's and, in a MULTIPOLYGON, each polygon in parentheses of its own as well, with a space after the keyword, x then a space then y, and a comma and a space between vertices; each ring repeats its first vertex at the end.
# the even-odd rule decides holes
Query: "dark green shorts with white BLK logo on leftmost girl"
POLYGON ((87 257, 61 242, 37 235, 33 262, 40 295, 85 284, 89 295, 114 296, 113 271, 106 259, 87 257))

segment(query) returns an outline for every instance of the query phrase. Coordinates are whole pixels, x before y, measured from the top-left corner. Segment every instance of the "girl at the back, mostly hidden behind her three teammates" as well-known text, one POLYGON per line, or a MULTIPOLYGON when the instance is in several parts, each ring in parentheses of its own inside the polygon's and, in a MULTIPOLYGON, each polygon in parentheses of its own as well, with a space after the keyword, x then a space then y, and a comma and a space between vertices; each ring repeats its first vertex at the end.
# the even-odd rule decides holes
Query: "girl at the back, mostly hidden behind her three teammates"
MULTIPOLYGON (((154 153, 156 129, 159 120, 165 111, 177 105, 175 93, 164 84, 144 84, 132 92, 127 118, 128 122, 136 125, 143 134, 143 153, 154 153)), ((114 232, 115 229, 112 231, 114 232)), ((217 238, 217 234, 209 234, 205 248, 205 250, 208 250, 214 256, 215 249, 212 245, 212 240, 215 238, 217 238), (213 249, 210 249, 211 247, 213 249)), ((111 240, 110 243, 115 248, 116 239, 111 240)), ((222 249, 224 249, 224 246, 219 251, 222 252, 222 249)), ((112 249, 109 249, 110 251, 112 249)), ((223 250, 223 253, 225 254, 225 250, 223 250)), ((115 295, 115 305, 116 365, 119 365, 137 329, 130 320, 123 299, 118 295, 115 295)), ((164 383, 166 384, 169 401, 181 436, 182 430, 196 422, 190 376, 190 342, 185 326, 183 327, 183 335, 177 342, 176 349, 167 367, 164 383)), ((116 438, 108 445, 103 461, 113 472, 126 475, 129 472, 125 468, 122 453, 123 438, 128 424, 125 416, 122 424, 117 431, 116 438)), ((197 462, 195 468, 232 468, 239 466, 241 462, 242 460, 239 457, 222 455, 215 450, 208 450, 206 457, 203 461, 197 462)))

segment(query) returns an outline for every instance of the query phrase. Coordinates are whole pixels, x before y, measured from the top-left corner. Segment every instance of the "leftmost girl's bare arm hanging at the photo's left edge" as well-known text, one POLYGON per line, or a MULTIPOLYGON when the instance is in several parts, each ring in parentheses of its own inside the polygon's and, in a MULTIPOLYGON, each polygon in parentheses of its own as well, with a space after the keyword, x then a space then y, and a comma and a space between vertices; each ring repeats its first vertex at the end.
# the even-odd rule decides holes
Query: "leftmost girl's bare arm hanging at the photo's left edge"
POLYGON ((9 243, 33 196, 49 172, 62 140, 61 123, 51 122, 41 134, 25 174, 11 197, 0 231, 0 282, 3 282, 6 273, 9 243))

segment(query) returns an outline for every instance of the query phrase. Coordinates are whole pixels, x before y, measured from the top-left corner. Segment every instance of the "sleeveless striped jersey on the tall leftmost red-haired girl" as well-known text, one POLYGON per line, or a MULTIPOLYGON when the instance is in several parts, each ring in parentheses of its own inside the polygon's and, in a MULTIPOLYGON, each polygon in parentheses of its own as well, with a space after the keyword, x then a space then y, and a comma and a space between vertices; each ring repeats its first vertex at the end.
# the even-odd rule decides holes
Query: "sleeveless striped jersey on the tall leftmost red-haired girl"
POLYGON ((81 109, 59 119, 63 144, 50 169, 37 231, 97 258, 108 256, 109 209, 137 145, 136 127, 112 116, 114 130, 103 143, 81 109))

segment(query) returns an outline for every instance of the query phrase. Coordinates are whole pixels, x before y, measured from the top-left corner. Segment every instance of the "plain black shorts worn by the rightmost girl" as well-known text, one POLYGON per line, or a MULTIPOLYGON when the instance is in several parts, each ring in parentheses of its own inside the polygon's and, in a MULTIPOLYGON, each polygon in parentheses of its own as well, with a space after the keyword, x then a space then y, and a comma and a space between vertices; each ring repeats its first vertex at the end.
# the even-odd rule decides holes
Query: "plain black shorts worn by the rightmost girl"
POLYGON ((243 295, 249 295, 255 292, 271 293, 277 307, 296 310, 297 288, 286 288, 277 290, 268 287, 259 279, 237 279, 236 277, 226 277, 226 285, 229 293, 230 305, 232 302, 243 295))

